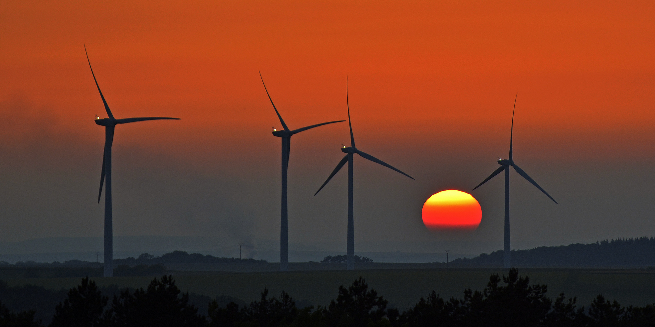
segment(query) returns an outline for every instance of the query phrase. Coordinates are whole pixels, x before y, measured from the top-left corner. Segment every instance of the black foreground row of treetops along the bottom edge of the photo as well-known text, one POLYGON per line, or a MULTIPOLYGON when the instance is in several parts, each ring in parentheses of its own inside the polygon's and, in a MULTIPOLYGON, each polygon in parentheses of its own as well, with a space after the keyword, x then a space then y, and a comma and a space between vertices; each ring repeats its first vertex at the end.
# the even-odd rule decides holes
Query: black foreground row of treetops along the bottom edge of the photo
MULTIPOLYGON (((84 278, 54 307, 48 326, 654 326, 655 304, 624 307, 597 296, 588 307, 578 306, 565 294, 553 301, 547 286, 529 283, 517 269, 508 276, 491 275, 482 291, 464 290, 464 297, 443 299, 436 292, 405 311, 388 307, 388 301, 369 289, 362 277, 339 286, 337 298, 326 307, 299 307, 290 294, 250 304, 217 298, 208 301, 202 315, 188 293, 181 293, 171 276, 153 279, 147 288, 114 289, 108 296, 94 281, 84 278), (227 303, 226 303, 227 302, 227 303)), ((3 302, 4 303, 4 302, 3 302)), ((34 311, 13 313, 0 305, 0 326, 41 326, 34 311)))

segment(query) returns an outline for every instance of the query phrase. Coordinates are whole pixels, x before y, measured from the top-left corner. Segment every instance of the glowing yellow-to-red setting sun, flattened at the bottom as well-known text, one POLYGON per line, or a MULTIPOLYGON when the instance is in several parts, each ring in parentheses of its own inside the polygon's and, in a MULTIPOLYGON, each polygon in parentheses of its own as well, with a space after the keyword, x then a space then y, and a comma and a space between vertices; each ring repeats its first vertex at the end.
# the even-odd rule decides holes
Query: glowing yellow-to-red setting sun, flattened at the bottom
POLYGON ((423 224, 433 232, 475 230, 482 220, 482 209, 472 195, 458 191, 441 191, 425 201, 423 224))

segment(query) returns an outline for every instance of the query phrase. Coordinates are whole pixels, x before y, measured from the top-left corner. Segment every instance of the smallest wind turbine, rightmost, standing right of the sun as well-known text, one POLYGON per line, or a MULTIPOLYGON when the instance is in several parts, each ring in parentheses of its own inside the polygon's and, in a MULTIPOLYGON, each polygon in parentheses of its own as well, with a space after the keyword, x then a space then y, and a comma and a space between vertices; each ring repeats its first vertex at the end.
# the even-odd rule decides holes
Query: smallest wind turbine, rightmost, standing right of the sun
POLYGON ((514 135, 514 111, 516 110, 516 98, 518 97, 518 94, 516 94, 516 97, 514 97, 514 109, 512 109, 512 129, 510 129, 510 158, 502 160, 498 158, 498 169, 496 169, 487 179, 482 181, 480 184, 478 184, 473 190, 476 190, 476 188, 479 188, 482 184, 485 182, 489 181, 490 179, 493 179, 496 175, 498 175, 501 171, 505 171, 505 239, 504 239, 504 247, 502 250, 503 254, 503 267, 505 268, 510 268, 512 267, 511 260, 510 260, 510 251, 512 248, 510 247, 510 167, 514 167, 514 170, 519 173, 524 179, 527 179, 527 181, 531 182, 536 188, 541 190, 541 192, 544 192, 548 198, 552 199, 555 204, 557 201, 553 199, 552 196, 548 194, 539 184, 537 184, 531 177, 528 176, 523 169, 519 168, 519 166, 514 163, 512 160, 512 137, 514 135))

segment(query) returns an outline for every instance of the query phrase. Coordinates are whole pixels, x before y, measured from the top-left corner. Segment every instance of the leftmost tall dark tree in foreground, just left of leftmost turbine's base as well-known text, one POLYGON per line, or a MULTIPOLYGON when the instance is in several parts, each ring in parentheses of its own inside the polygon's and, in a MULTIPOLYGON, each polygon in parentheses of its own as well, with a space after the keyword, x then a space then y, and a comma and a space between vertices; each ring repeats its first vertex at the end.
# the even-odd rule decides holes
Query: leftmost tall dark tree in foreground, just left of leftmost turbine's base
POLYGON ((79 286, 68 291, 68 297, 54 309, 50 327, 96 327, 109 298, 103 296, 96 282, 82 279, 79 286))

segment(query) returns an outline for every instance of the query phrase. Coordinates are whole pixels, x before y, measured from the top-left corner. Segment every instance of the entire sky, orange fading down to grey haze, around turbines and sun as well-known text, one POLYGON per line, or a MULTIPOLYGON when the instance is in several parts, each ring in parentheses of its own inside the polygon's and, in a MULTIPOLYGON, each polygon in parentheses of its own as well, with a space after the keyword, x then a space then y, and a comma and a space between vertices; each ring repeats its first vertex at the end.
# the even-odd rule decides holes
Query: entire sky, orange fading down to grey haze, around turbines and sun
MULTIPOLYGON (((655 234, 652 1, 4 1, 0 4, 0 241, 100 236, 106 116, 117 126, 115 235, 278 239, 280 123, 346 119, 357 241, 444 239, 422 203, 470 191, 514 159, 512 239, 544 245, 655 234)), ((295 135, 290 241, 346 238, 346 123, 295 135)), ((502 176, 472 194, 458 241, 502 242, 502 176)), ((453 238, 453 236, 449 236, 453 238)))

